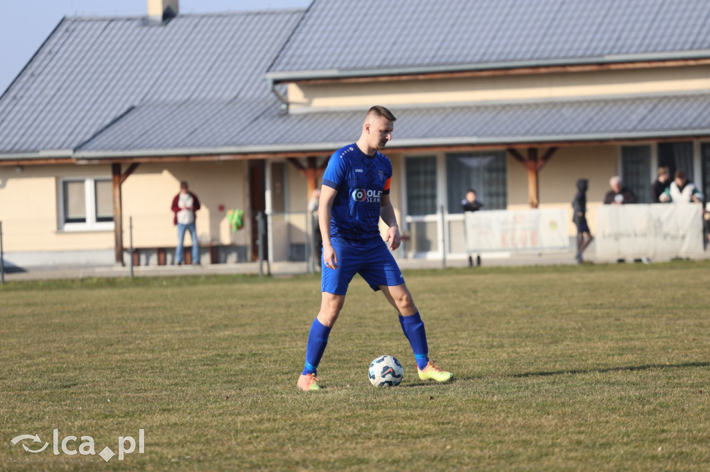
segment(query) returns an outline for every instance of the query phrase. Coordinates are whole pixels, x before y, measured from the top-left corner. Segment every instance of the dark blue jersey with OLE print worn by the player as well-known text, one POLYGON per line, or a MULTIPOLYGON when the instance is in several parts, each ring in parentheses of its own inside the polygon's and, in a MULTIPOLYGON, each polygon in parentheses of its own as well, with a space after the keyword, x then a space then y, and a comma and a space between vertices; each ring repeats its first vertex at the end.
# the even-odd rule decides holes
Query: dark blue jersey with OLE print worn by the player
POLYGON ((345 245, 382 242, 381 198, 390 193, 391 179, 392 163, 378 151, 368 156, 351 144, 332 154, 323 174, 323 185, 338 191, 330 218, 332 240, 345 245))

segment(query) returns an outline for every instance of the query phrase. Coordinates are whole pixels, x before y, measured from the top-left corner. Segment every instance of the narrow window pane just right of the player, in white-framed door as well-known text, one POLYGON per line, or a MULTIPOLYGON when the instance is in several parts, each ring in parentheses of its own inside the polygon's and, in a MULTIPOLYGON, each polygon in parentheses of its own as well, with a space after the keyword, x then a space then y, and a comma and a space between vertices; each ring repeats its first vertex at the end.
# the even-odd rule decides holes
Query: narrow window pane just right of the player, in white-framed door
POLYGON ((437 213, 436 157, 407 157, 407 213, 433 215, 437 213))

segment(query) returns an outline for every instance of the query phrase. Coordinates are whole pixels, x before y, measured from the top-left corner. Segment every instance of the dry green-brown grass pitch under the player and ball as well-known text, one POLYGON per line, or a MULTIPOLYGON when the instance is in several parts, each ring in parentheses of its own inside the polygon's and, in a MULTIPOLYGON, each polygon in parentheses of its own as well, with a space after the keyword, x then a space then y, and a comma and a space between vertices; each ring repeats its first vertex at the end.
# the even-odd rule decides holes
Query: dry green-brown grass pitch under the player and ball
POLYGON ((295 386, 320 306, 315 276, 0 287, 0 469, 709 467, 710 263, 405 277, 430 356, 454 383, 419 381, 396 313, 361 279, 317 393, 295 386), (368 382, 381 354, 402 361, 400 386, 368 382), (145 449, 55 456, 55 428, 60 441, 91 436, 97 453, 144 429, 145 449), (19 434, 41 442, 12 444, 19 434), (57 462, 82 458, 99 463, 57 462))

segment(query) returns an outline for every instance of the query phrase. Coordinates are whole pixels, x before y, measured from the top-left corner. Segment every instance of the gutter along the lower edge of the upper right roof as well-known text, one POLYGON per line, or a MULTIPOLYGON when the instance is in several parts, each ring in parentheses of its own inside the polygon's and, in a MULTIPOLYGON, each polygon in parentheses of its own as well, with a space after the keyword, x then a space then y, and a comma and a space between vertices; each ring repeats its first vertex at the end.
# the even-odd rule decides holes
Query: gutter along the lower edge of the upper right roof
POLYGON ((581 58, 561 58, 551 60, 525 60, 507 62, 481 62, 474 64, 453 64, 425 67, 388 67, 382 69, 315 69, 302 71, 267 72, 270 84, 323 79, 354 79, 362 77, 389 77, 402 75, 442 74, 452 72, 474 72, 491 69, 523 69, 540 67, 564 67, 591 64, 613 64, 619 62, 667 62, 678 60, 701 60, 710 58, 710 50, 674 51, 664 53, 606 55, 581 58))

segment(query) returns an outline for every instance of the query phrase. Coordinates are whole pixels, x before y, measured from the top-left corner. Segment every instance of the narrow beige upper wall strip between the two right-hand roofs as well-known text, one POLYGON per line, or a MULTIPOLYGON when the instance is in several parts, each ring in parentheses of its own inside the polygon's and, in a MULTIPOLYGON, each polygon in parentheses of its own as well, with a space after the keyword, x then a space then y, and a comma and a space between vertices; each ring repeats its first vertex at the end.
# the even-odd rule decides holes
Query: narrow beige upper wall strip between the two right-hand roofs
POLYGON ((564 99, 710 89, 710 66, 471 77, 466 79, 289 84, 293 110, 417 103, 564 99))

